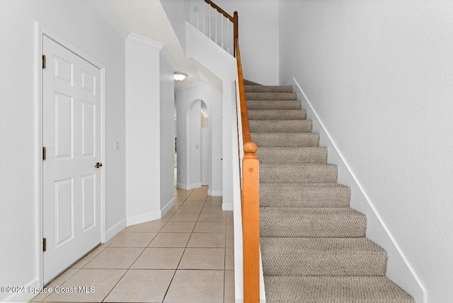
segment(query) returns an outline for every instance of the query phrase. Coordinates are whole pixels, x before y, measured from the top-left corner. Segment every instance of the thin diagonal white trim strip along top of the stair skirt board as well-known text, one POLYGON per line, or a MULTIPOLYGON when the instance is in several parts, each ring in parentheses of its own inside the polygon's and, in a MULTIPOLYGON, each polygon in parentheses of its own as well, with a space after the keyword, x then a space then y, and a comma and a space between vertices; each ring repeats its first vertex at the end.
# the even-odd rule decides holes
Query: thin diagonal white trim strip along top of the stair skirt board
MULTIPOLYGON (((377 212, 377 209, 375 208, 375 206, 372 203, 371 199, 367 195, 367 193, 366 193, 365 189, 363 188, 362 184, 360 184, 360 182, 357 179, 357 177, 355 176, 354 172, 352 172, 350 166, 348 165, 348 162, 345 160, 345 158, 343 157, 343 154, 338 149, 338 146, 333 141, 333 139, 331 137, 331 134, 327 131, 326 127, 323 124, 323 121, 320 119, 320 117, 317 114, 316 110, 311 105, 311 102, 309 101, 308 97, 306 97, 306 95, 304 93, 304 90, 302 90, 301 86, 299 85, 299 83, 297 82, 297 80, 295 78, 293 78, 292 81, 293 81, 293 87, 296 88, 296 90, 297 90, 296 93, 301 93, 304 96, 304 101, 306 102, 306 105, 308 105, 308 107, 309 107, 309 108, 305 108, 305 109, 307 109, 307 114, 308 114, 309 111, 311 111, 313 113, 314 117, 310 117, 310 118, 313 119, 314 121, 318 122, 319 125, 321 126, 321 129, 319 129, 317 131, 319 131, 322 134, 322 136, 325 136, 325 138, 327 138, 327 140, 328 140, 328 144, 330 144, 331 147, 333 147, 333 150, 331 150, 329 148, 329 155, 332 155, 333 153, 336 153, 338 155, 338 157, 340 158, 341 162, 340 163, 336 163, 336 164, 338 165, 338 167, 344 168, 348 172, 348 174, 350 174, 350 177, 353 180, 352 182, 354 182, 354 185, 357 186, 357 189, 360 190, 360 194, 362 194, 362 196, 365 198, 365 200, 369 204, 369 207, 372 209, 372 214, 367 214, 367 215, 374 215, 374 217, 377 218, 377 220, 379 221, 379 224, 382 226, 382 228, 384 229, 384 231, 386 233, 386 237, 388 237, 390 239, 390 241, 391 241, 391 244, 393 244, 394 250, 396 250, 398 252, 398 254, 401 256, 401 259, 404 262, 404 264, 401 264, 401 265, 405 266, 406 268, 408 268, 408 271, 410 271, 411 275, 413 275, 413 278, 414 278, 415 282, 418 284, 418 287, 420 288, 420 291, 423 293, 423 303, 428 302, 427 301, 427 293, 426 293, 425 287, 423 287, 423 284, 420 281, 420 279, 418 278, 418 275, 415 273, 415 271, 412 268, 411 264, 409 263, 408 259, 403 254, 403 251, 401 250, 400 246, 398 245, 398 243, 396 242, 396 240, 392 236, 392 234, 391 234, 389 228, 386 226, 384 220, 382 220, 381 215, 379 215, 379 213, 377 212)), ((384 247, 384 249, 386 249, 386 247, 384 247)), ((392 278, 392 277, 389 277, 389 278, 392 278)), ((395 281, 395 282, 397 284, 399 284, 398 281, 395 281)), ((414 297, 414 299, 417 299, 417 298, 414 297)))

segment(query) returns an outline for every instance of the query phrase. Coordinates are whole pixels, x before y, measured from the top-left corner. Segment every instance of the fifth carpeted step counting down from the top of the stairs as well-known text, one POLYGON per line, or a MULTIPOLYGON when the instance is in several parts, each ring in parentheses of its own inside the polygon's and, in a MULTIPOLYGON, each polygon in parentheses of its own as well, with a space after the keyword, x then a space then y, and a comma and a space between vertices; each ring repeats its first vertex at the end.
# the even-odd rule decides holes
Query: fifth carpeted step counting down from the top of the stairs
POLYGON ((310 133, 311 120, 250 120, 253 133, 310 133))

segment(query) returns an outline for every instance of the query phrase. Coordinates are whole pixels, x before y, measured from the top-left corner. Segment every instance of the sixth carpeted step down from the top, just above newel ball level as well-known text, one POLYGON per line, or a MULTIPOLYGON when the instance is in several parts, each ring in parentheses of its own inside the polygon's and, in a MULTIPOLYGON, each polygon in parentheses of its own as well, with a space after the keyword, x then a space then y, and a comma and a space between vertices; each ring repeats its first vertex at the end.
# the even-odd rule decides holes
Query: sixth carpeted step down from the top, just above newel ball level
POLYGON ((316 147, 319 133, 250 133, 251 141, 261 147, 316 147))

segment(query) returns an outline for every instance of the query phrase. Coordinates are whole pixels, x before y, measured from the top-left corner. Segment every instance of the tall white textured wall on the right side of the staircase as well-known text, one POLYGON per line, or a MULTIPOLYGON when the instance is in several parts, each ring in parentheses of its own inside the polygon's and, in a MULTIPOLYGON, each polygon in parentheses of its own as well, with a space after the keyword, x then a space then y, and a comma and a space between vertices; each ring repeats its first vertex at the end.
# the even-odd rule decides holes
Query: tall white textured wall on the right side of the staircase
MULTIPOLYGON (((280 4, 280 81, 310 100, 420 279, 405 287, 418 302, 423 287, 428 302, 453 297, 452 13, 446 0, 280 4)), ((389 277, 413 280, 393 259, 389 277)))

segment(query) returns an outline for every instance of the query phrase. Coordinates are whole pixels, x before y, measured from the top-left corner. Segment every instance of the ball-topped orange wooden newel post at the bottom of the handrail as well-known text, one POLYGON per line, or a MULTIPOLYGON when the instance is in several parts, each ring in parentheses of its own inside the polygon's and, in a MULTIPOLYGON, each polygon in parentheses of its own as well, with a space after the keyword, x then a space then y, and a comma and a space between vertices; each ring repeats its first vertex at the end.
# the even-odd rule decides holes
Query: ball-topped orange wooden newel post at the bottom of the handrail
MULTIPOLYGON (((236 16, 236 15, 235 15, 236 16)), ((257 146, 243 145, 243 302, 260 301, 260 168, 257 146)))

